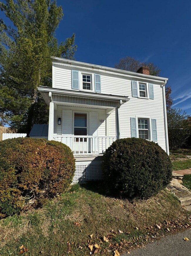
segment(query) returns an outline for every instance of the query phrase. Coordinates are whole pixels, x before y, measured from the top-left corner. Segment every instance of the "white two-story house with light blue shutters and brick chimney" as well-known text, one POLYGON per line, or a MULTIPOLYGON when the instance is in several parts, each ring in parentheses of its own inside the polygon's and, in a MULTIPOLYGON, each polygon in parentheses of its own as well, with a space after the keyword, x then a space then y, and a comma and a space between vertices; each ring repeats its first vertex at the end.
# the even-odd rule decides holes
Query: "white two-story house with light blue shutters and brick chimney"
POLYGON ((76 158, 73 183, 101 179, 105 149, 119 138, 144 138, 167 154, 167 78, 52 57, 52 88, 39 87, 50 107, 48 140, 76 158))

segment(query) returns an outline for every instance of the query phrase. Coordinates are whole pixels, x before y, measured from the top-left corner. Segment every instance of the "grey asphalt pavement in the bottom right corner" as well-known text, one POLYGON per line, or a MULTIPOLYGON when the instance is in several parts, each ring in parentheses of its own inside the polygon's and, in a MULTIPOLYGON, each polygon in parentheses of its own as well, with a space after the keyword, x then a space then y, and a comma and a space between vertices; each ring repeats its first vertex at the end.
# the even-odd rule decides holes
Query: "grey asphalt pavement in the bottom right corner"
MULTIPOLYGON (((162 237, 144 248, 130 250, 132 256, 190 256, 191 255, 191 229, 178 234, 162 237), (184 241, 187 237, 190 241, 184 241)), ((124 254, 123 256, 129 256, 124 254)))

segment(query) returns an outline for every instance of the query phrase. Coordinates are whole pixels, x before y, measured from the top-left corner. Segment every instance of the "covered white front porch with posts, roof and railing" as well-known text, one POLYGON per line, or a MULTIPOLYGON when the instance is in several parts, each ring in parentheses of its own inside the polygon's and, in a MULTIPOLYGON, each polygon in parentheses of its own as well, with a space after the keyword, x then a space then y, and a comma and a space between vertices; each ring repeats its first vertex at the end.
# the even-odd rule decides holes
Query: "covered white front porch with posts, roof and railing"
POLYGON ((49 108, 48 140, 60 141, 76 155, 103 154, 120 138, 119 107, 126 96, 40 87, 49 108))

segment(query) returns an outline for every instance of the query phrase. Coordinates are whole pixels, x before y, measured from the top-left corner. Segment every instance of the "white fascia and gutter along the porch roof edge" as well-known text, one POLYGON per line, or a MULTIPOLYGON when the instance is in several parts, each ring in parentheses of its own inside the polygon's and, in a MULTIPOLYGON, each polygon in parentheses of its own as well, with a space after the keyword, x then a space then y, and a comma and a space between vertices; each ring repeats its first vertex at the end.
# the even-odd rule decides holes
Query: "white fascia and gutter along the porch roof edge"
MULTIPOLYGON (((108 101, 120 101, 122 100, 123 102, 127 102, 128 96, 121 96, 121 95, 101 95, 97 93, 86 93, 86 92, 80 92, 80 91, 75 91, 71 92, 68 90, 59 90, 51 87, 37 87, 38 91, 41 92, 41 95, 43 96, 43 92, 49 93, 52 92, 52 94, 56 95, 61 95, 61 96, 74 96, 74 97, 84 97, 84 98, 91 98, 95 100, 108 100, 108 101)), ((43 97, 45 99, 45 97, 43 97)))

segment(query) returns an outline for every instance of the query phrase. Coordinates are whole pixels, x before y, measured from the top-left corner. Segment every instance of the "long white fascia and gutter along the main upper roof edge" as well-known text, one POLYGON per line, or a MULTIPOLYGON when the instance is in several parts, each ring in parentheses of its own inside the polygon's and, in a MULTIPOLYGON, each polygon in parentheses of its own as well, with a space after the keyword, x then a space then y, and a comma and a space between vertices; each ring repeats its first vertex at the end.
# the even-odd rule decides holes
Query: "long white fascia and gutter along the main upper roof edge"
POLYGON ((158 83, 162 83, 162 84, 168 80, 168 78, 164 78, 164 77, 160 77, 160 76, 145 75, 145 74, 140 74, 140 73, 121 70, 121 69, 114 69, 114 68, 84 63, 84 62, 80 62, 80 61, 67 60, 67 59, 63 59, 63 58, 56 58, 56 57, 51 57, 51 58, 52 58, 53 65, 78 68, 81 70, 90 70, 93 72, 97 71, 100 73, 113 74, 116 76, 125 76, 125 77, 129 77, 129 78, 133 78, 133 79, 144 79, 144 80, 158 82, 158 83))

